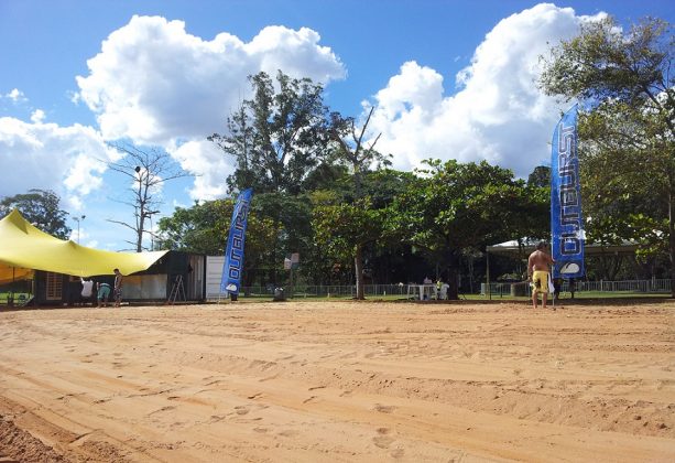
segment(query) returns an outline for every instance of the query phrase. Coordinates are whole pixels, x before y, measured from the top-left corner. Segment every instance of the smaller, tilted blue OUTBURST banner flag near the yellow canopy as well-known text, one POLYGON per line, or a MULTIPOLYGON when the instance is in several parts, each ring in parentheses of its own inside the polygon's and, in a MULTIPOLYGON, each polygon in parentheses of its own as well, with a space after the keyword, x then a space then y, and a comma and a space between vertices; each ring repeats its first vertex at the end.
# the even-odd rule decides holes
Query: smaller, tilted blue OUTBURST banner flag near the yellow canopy
POLYGON ((249 216, 249 206, 253 190, 248 189, 239 194, 232 222, 230 223, 230 234, 225 249, 225 263, 222 265, 222 278, 220 280, 220 292, 239 294, 241 286, 241 272, 243 270, 243 245, 246 241, 246 226, 249 216))

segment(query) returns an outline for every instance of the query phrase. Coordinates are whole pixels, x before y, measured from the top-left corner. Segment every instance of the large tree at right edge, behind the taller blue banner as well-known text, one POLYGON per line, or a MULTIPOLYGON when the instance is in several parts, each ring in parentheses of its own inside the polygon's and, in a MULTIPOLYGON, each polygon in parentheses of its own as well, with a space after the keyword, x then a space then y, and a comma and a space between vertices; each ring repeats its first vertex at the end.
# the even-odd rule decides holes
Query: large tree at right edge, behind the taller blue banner
POLYGON ((675 297, 675 40, 645 19, 585 23, 544 60, 542 88, 583 103, 579 159, 589 238, 667 252, 675 297), (664 239, 665 238, 665 239, 664 239))

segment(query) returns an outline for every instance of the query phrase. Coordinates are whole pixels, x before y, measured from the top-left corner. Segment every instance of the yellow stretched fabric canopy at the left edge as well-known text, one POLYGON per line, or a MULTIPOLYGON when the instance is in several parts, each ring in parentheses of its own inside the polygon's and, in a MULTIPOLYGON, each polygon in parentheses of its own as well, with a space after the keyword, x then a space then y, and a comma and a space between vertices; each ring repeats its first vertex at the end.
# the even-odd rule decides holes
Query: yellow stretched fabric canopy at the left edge
POLYGON ((113 252, 64 241, 29 224, 17 209, 0 220, 0 268, 15 267, 77 277, 112 274, 113 269, 120 269, 122 274, 130 274, 146 270, 165 254, 165 250, 113 252))

